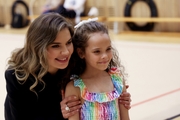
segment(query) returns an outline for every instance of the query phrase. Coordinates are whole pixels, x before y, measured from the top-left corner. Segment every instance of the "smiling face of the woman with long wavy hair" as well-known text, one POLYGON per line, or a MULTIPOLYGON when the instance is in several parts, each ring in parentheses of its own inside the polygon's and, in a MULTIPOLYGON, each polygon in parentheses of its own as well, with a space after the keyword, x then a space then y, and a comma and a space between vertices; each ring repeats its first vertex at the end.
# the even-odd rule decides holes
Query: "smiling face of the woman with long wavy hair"
POLYGON ((58 69, 65 69, 73 53, 73 44, 68 28, 61 30, 53 43, 47 47, 48 72, 54 74, 58 69))

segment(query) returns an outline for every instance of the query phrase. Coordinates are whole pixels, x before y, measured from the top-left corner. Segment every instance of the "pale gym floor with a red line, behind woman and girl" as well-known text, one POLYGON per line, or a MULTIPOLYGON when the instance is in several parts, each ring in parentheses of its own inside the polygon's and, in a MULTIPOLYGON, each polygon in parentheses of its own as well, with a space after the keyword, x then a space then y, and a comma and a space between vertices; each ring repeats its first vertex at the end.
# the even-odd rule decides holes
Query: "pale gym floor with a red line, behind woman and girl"
MULTIPOLYGON (((14 48, 22 47, 27 28, 0 28, 0 120, 4 120, 6 60, 14 48)), ((180 120, 180 33, 109 31, 129 75, 130 118, 180 120)))

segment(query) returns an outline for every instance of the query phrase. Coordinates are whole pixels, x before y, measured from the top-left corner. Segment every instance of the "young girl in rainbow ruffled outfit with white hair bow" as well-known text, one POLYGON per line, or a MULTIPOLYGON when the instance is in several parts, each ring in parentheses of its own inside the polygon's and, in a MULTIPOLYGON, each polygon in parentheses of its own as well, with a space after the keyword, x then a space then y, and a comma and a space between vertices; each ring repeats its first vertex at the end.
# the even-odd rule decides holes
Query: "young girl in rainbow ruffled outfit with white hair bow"
POLYGON ((65 96, 78 96, 82 107, 69 120, 129 120, 128 110, 118 104, 118 97, 126 91, 124 67, 107 28, 94 19, 82 21, 75 26, 73 44, 76 71, 65 96))

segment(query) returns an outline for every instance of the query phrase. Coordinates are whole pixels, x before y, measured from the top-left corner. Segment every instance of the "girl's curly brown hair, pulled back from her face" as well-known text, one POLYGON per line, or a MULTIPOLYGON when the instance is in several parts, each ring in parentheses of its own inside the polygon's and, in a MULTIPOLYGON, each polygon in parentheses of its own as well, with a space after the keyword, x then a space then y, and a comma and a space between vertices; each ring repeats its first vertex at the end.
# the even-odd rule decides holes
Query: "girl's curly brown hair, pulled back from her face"
MULTIPOLYGON (((77 48, 80 48, 82 51, 85 51, 85 48, 87 47, 87 41, 89 40, 91 35, 93 33, 98 33, 98 32, 109 34, 108 28, 103 23, 97 21, 84 23, 75 29, 74 36, 72 39, 74 44, 74 56, 76 57, 75 59, 76 70, 74 71, 75 74, 77 75, 82 74, 86 68, 85 60, 81 59, 78 56, 77 48)), ((124 66, 121 65, 118 52, 114 47, 112 47, 112 52, 113 52, 113 58, 110 61, 106 71, 109 71, 111 67, 118 67, 122 72, 122 76, 124 76, 124 66)))

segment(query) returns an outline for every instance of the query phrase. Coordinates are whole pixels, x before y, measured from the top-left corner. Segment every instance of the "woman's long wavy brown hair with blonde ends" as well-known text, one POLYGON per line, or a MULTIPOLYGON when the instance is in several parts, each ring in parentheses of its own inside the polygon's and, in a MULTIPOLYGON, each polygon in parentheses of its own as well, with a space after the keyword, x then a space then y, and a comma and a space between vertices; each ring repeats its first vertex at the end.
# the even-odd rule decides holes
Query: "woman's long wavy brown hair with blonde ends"
POLYGON ((34 88, 38 83, 45 87, 42 77, 48 72, 47 46, 64 28, 68 28, 71 36, 73 35, 70 22, 58 13, 40 15, 31 23, 24 47, 14 50, 8 60, 8 69, 15 70, 20 84, 24 84, 30 75, 35 78, 35 82, 30 86, 30 90, 35 94, 37 93, 34 88))

